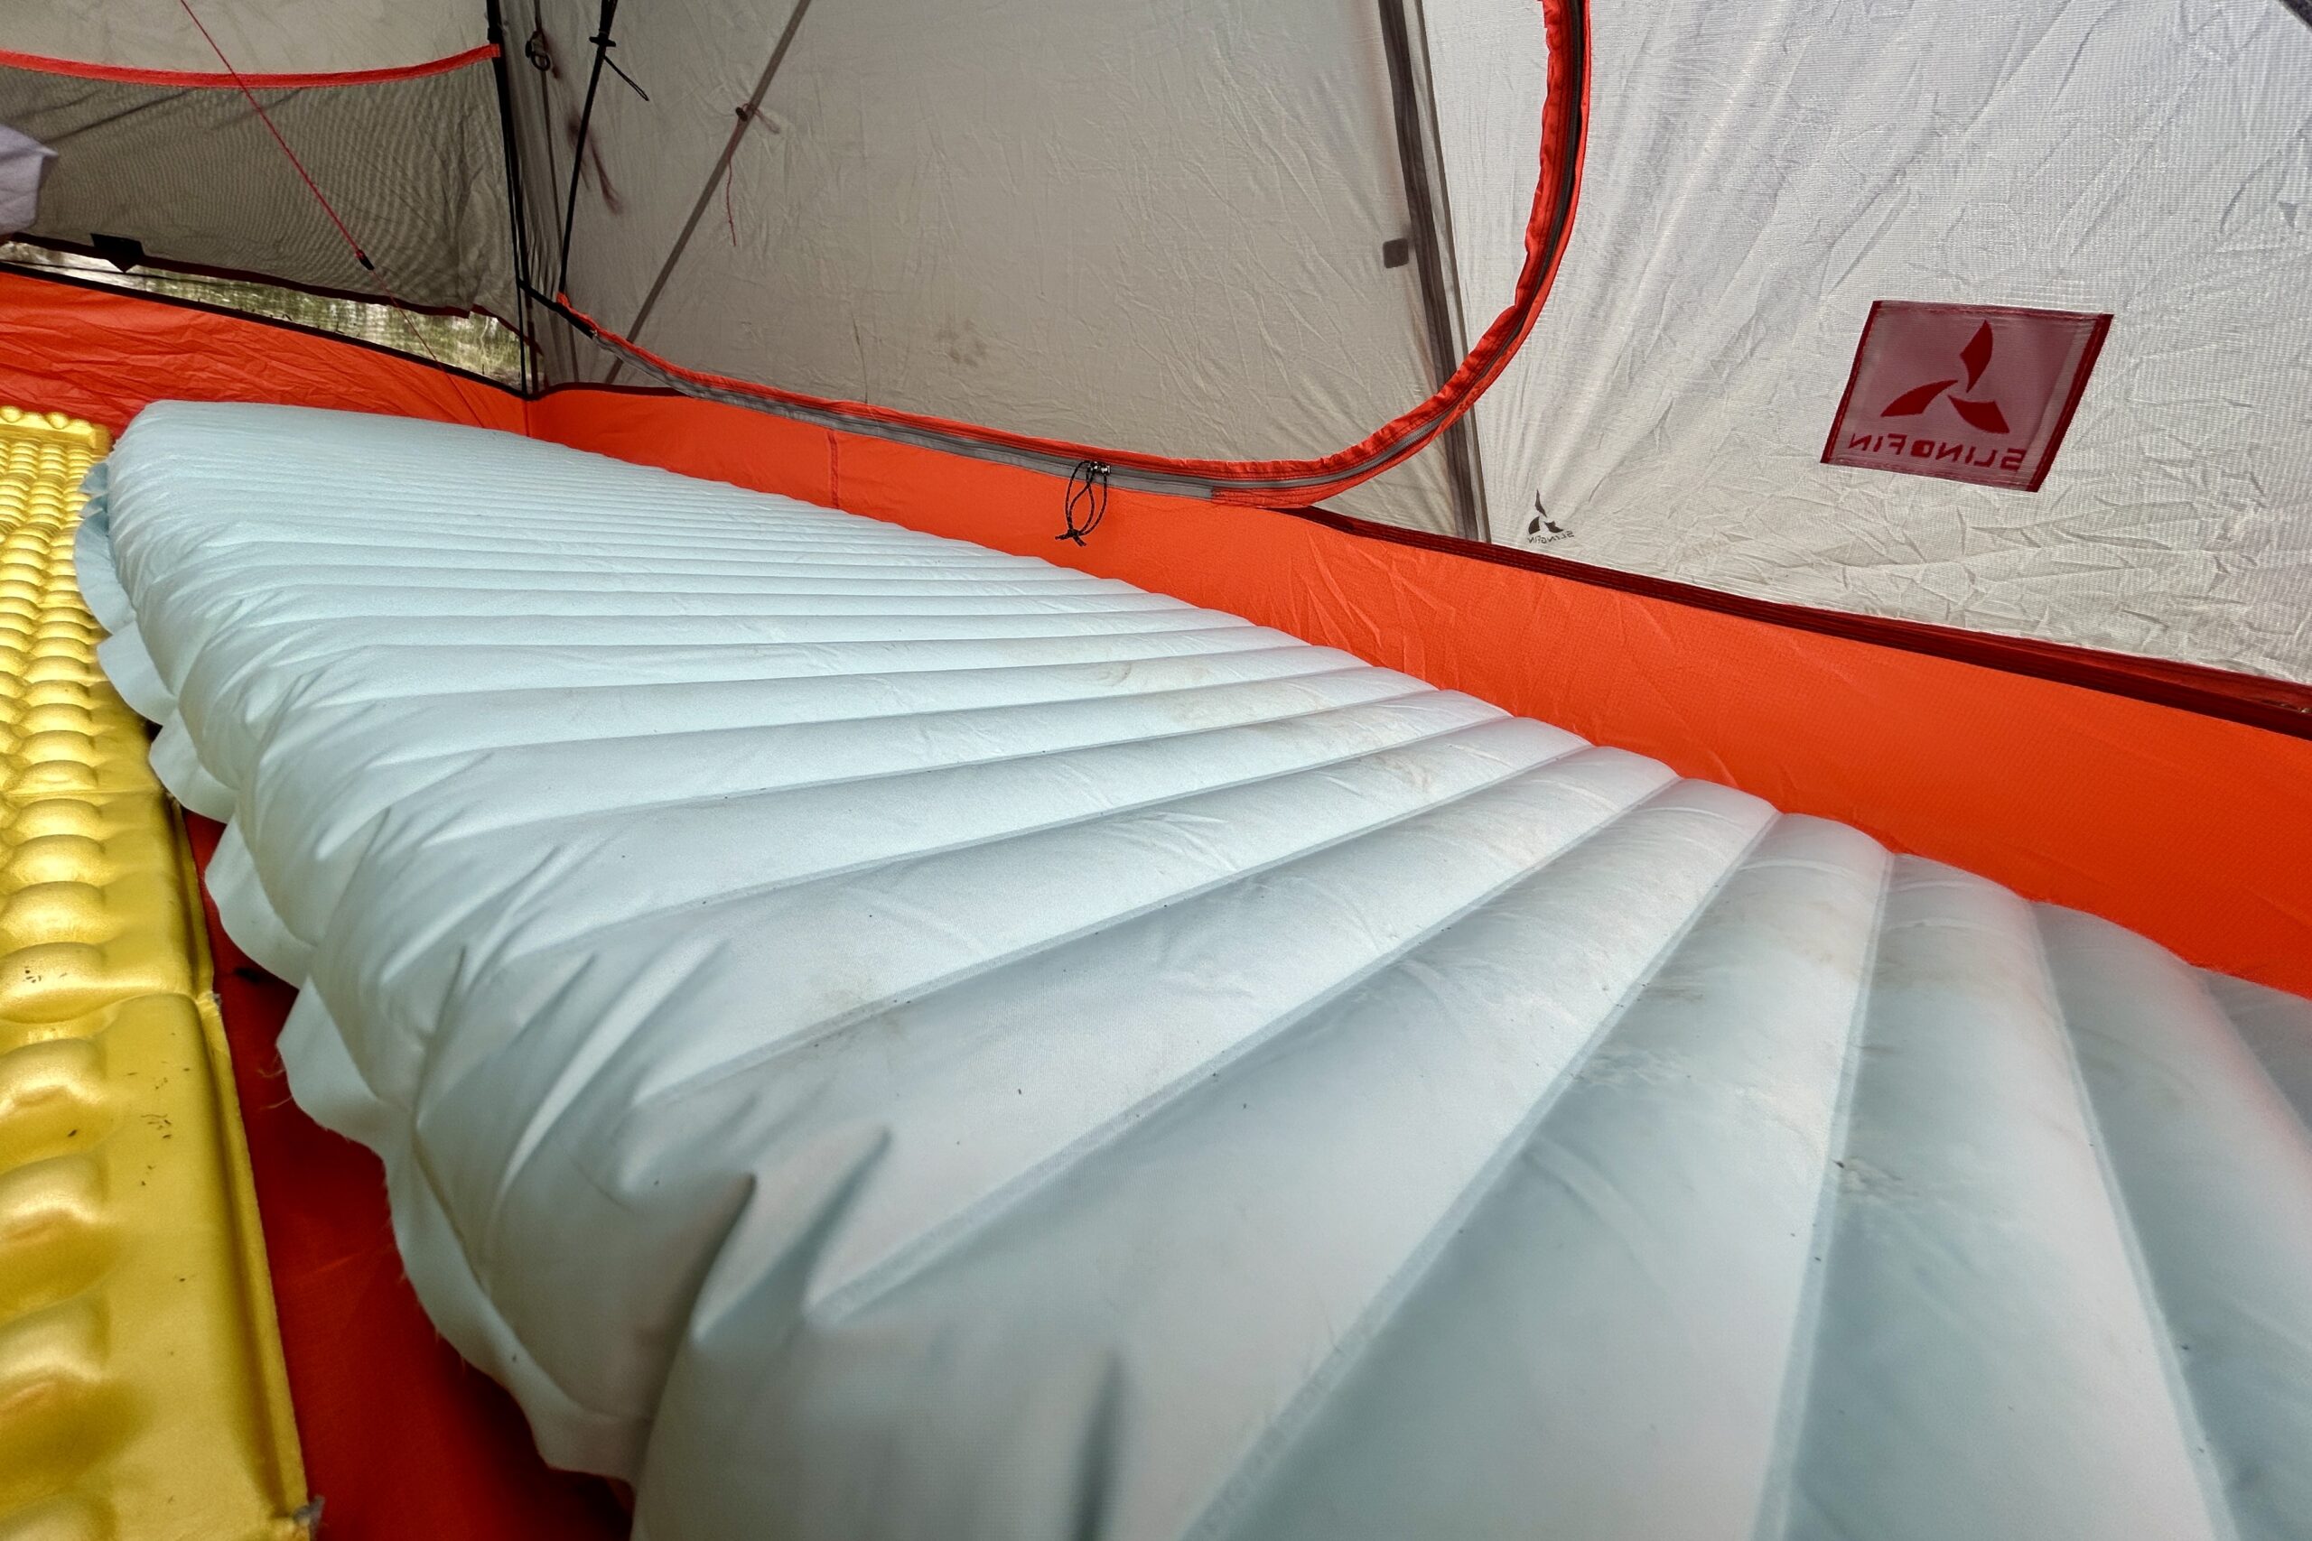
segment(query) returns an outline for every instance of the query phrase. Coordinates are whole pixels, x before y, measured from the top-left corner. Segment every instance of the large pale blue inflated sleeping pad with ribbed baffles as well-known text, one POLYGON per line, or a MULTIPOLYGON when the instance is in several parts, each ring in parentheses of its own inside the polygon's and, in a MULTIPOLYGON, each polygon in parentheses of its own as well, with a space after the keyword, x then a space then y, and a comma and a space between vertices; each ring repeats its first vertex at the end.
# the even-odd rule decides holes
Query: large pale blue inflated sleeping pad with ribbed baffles
POLYGON ((2312 1005, 1228 615, 148 409, 298 1102, 645 1541, 2312 1523, 2312 1005))

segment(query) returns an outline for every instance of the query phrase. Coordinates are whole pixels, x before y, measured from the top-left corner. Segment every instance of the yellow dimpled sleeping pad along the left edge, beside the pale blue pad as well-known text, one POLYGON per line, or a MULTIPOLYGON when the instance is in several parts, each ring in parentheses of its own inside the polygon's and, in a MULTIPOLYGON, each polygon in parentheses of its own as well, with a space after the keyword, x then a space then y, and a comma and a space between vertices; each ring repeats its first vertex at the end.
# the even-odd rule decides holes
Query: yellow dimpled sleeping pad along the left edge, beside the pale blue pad
POLYGON ((0 1541, 301 1536, 192 869, 72 575, 106 448, 0 407, 0 1541))

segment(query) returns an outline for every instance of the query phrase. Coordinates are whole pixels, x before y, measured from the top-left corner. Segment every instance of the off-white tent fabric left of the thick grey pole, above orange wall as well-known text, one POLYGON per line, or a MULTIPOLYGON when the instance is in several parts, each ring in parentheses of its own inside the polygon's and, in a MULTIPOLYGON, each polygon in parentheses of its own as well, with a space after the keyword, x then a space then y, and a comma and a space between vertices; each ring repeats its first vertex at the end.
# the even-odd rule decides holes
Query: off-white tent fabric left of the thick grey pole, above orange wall
MULTIPOLYGON (((809 395, 1218 460, 1343 448, 1440 384, 1420 275, 1383 259, 1408 210, 1371 0, 812 5, 714 178, 791 14, 620 14, 613 62, 650 99, 603 76, 569 263, 608 328, 809 395)), ((596 5, 541 16, 548 104, 527 67, 516 99, 560 217, 596 5)), ((1438 455, 1346 506, 1452 518, 1438 455)))

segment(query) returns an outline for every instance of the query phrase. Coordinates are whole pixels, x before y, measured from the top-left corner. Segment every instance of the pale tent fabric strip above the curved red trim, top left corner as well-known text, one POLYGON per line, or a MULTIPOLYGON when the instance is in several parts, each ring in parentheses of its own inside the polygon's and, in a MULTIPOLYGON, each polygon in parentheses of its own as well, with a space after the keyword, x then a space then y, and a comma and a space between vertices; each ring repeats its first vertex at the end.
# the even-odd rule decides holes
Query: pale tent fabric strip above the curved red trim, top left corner
MULTIPOLYGON (((481 0, 197 0, 201 25, 245 74, 402 69, 483 44, 481 0)), ((123 69, 217 69, 178 0, 12 0, 5 46, 123 69)))

